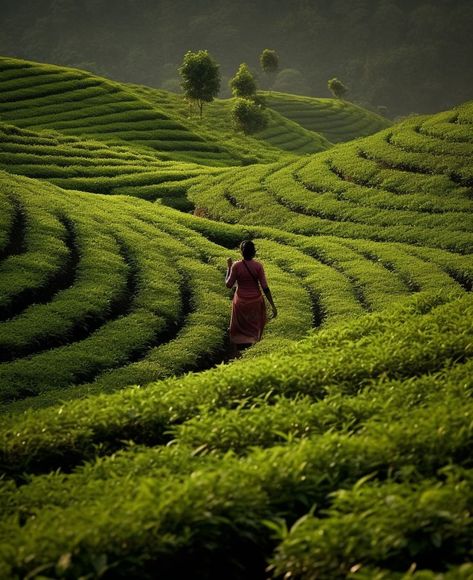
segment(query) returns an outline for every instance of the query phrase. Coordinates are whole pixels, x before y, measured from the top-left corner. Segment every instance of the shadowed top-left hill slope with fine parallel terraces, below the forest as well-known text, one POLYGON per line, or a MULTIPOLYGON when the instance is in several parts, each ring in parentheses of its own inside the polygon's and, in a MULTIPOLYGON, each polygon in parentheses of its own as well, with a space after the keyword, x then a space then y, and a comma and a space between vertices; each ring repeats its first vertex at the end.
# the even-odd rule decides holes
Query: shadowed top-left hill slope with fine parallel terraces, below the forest
POLYGON ((159 152, 161 159, 239 163, 224 146, 196 135, 124 85, 90 73, 0 58, 0 87, 0 118, 20 128, 133 144, 159 152))

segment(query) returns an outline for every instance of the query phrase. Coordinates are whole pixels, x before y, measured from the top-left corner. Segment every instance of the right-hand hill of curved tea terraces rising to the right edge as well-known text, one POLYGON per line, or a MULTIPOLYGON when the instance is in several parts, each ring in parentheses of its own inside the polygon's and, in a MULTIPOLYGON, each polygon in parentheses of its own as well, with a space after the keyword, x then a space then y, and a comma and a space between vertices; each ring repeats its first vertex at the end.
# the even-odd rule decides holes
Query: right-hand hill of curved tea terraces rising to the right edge
POLYGON ((327 152, 203 177, 200 214, 245 225, 473 250, 473 103, 327 152))

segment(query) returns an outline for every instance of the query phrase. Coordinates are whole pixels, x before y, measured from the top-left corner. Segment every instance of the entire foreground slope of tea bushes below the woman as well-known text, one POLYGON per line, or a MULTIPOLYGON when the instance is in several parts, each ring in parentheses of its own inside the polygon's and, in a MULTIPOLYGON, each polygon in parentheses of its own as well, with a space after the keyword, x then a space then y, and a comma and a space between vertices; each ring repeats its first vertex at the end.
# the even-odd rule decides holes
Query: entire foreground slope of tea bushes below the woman
POLYGON ((86 540, 62 564, 75 576, 97 553, 126 573, 198 567, 236 578, 242 563, 263 570, 269 559, 275 577, 309 578, 322 554, 327 570, 361 562, 389 574, 388 529, 403 570, 413 557, 426 562, 422 577, 458 567, 471 538, 471 316, 470 295, 419 295, 284 355, 6 418, 1 462, 19 482, 25 469, 95 459, 18 489, 3 482, 2 575, 58 574, 78 536, 86 540), (369 545, 332 541, 333 531, 350 542, 360 526, 369 545), (445 542, 429 533, 409 548, 426 526, 445 542))

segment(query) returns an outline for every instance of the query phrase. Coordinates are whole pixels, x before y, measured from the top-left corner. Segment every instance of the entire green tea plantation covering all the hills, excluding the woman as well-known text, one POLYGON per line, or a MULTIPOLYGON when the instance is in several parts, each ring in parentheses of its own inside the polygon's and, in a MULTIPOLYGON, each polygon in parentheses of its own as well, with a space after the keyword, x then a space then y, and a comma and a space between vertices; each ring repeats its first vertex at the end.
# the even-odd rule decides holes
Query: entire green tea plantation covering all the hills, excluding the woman
POLYGON ((0 577, 473 578, 473 102, 268 93, 244 136, 70 68, 0 88, 0 577), (229 361, 246 238, 279 316, 229 361))

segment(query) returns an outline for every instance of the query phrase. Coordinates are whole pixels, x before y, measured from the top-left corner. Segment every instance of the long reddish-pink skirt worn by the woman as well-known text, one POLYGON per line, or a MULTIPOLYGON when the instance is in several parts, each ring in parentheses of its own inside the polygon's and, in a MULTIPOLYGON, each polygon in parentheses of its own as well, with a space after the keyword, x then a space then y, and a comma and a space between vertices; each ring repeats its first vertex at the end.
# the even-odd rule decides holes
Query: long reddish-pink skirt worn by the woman
POLYGON ((230 340, 235 344, 253 344, 261 340, 266 325, 266 305, 258 298, 233 297, 230 340))

